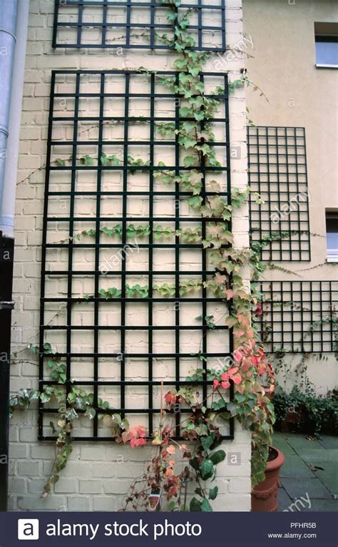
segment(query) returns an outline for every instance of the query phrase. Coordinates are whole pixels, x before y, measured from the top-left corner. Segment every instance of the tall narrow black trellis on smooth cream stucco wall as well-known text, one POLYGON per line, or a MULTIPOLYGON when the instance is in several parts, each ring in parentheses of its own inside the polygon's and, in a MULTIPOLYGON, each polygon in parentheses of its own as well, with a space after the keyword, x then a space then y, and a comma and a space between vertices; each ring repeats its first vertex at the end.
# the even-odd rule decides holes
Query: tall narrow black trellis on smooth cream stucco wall
POLYGON ((309 201, 305 130, 247 128, 249 183, 261 195, 250 200, 252 242, 264 242, 262 260, 309 261, 309 201), (271 240, 272 239, 272 240, 271 240))

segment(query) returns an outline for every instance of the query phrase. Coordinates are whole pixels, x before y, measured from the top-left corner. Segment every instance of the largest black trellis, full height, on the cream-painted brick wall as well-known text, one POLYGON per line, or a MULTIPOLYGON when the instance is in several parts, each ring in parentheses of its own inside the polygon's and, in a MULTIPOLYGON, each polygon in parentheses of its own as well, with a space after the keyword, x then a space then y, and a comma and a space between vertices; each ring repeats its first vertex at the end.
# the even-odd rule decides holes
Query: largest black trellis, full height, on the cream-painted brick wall
MULTIPOLYGON (((191 194, 183 191, 178 183, 174 189, 168 189, 155 178, 159 170, 175 170, 178 175, 193 169, 183 164, 182 147, 175 133, 166 139, 158 136, 159 123, 175 123, 175 128, 179 128, 180 123, 189 119, 180 116, 182 98, 165 90, 160 83, 162 77, 174 78, 178 83, 178 76, 175 72, 139 71, 53 71, 51 76, 41 258, 41 348, 46 341, 53 345, 53 334, 60 337, 63 333, 63 342, 58 338, 57 349, 58 357, 66 362, 68 392, 71 387, 87 387, 88 392, 94 394, 93 407, 98 412, 99 399, 111 397, 112 413, 128 418, 135 415, 137 423, 143 416, 150 434, 158 425, 161 382, 165 392, 170 387, 184 386, 187 367, 192 363, 194 368, 198 362, 198 366, 206 370, 206 359, 208 367, 212 367, 222 364, 233 351, 231 329, 224 326, 225 302, 206 288, 197 294, 180 295, 182 280, 211 279, 215 270, 210 264, 210 250, 204 250, 201 243, 183 242, 178 235, 169 242, 158 242, 153 235, 159 223, 175 230, 200 227, 205 235, 213 223, 224 222, 221 218, 213 218, 211 222, 210 218, 189 214, 185 200, 191 194), (141 84, 145 93, 140 92, 141 84), (133 138, 135 127, 138 131, 142 128, 142 138, 133 138), (121 163, 104 164, 103 155, 112 151, 120 154, 121 163), (141 152, 142 165, 130 162, 130 154, 136 157, 135 154, 141 152), (158 165, 163 153, 172 158, 172 165, 158 165), (90 154, 96 159, 89 161, 90 154), (135 187, 135 181, 138 190, 130 190, 135 187), (130 208, 135 198, 138 202, 143 200, 143 210, 130 208), (87 202, 93 203, 92 214, 86 212, 87 202), (162 209, 158 209, 158 203, 162 209), (83 206, 85 210, 81 210, 83 206), (111 242, 101 229, 116 223, 121 225, 121 239, 111 242), (136 242, 128 235, 130 223, 150 226, 148 241, 137 242, 137 260, 133 258, 136 242), (56 229, 61 232, 62 240, 56 241, 59 239, 56 229), (83 230, 93 230, 95 240, 88 242, 87 236, 78 238, 83 230), (185 255, 192 251, 198 251, 200 258, 197 263, 195 257, 189 265, 185 255), (160 260, 156 258, 158 252, 164 253, 160 260), (165 259, 170 253, 172 257, 165 259), (168 266, 163 267, 163 259, 168 260, 168 266), (147 280, 148 294, 130 297, 130 280, 140 285, 147 280), (152 287, 161 280, 173 281, 175 295, 164 297, 153 291, 152 287), (56 282, 60 293, 57 297, 56 282), (83 285, 88 287, 88 295, 83 294, 83 285), (113 300, 106 300, 99 292, 105 285, 106 288, 118 285, 121 292, 113 300), (187 316, 187 304, 195 306, 196 315, 200 314, 202 319, 187 316), (130 310, 138 306, 145 312, 143 323, 131 321, 130 324, 130 310), (173 309, 173 324, 158 324, 158 308, 165 306, 173 309), (223 321, 209 329, 205 317, 212 315, 215 307, 221 308, 223 321), (134 344, 128 340, 130 333, 137 336, 140 331, 148 332, 145 347, 140 346, 140 341, 134 344), (157 340, 163 332, 168 336, 164 345, 157 340), (200 342, 194 349, 188 346, 189 338, 196 332, 200 342), (222 337, 221 344, 218 339, 215 343, 215 336, 222 337), (135 370, 139 371, 136 376, 135 370), (140 396, 136 397, 134 394, 138 391, 140 396)), ((203 173, 202 195, 203 199, 215 195, 209 182, 217 173, 222 184, 220 195, 230 203, 227 75, 203 73, 200 78, 205 83, 205 93, 217 86, 225 90, 222 93, 218 88, 215 98, 220 101, 219 112, 210 122, 215 133, 215 142, 210 145, 215 146, 220 166, 198 168, 203 173)), ((41 354, 40 389, 53 384, 47 362, 48 355, 41 354)), ((208 397, 210 382, 197 380, 195 384, 200 385, 203 399, 208 397)), ((232 397, 233 386, 230 399, 232 397)), ((173 416, 178 439, 188 411, 182 408, 173 416)), ((55 412, 56 409, 41 405, 39 439, 53 438, 48 424, 55 412)), ((232 420, 223 432, 224 439, 233 438, 232 420)), ((97 413, 93 421, 83 422, 83 429, 74 440, 111 441, 111 436, 104 431, 97 413)))

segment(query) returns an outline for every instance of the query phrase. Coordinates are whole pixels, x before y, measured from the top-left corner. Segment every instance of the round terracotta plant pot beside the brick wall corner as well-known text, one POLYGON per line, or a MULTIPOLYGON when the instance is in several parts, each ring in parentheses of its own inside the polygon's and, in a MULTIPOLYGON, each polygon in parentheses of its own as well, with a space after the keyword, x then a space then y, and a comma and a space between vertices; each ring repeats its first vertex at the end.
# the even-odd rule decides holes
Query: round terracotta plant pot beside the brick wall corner
POLYGON ((265 480, 257 484, 251 493, 251 511, 277 511, 280 468, 285 462, 284 454, 270 446, 271 459, 265 469, 265 480), (275 457, 274 457, 275 456, 275 457))

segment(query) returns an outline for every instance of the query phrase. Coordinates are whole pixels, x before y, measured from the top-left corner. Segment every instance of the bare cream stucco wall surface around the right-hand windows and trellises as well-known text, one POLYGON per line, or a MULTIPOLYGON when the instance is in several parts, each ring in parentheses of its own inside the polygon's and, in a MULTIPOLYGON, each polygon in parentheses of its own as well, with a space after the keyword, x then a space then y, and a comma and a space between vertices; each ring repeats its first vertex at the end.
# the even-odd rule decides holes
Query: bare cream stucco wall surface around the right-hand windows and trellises
MULTIPOLYGON (((292 275, 268 270, 267 280, 337 280, 326 264, 325 209, 338 208, 338 68, 316 68, 314 22, 338 21, 334 0, 244 0, 244 30, 250 36, 248 76, 269 99, 247 88, 250 118, 257 126, 304 127, 307 144, 311 262, 282 262, 292 275), (297 274, 297 275, 296 275, 297 274)), ((337 363, 311 357, 309 379, 318 392, 337 386, 337 363), (320 373, 319 373, 320 371, 320 373)), ((287 358, 293 369, 299 356, 287 358)), ((295 383, 288 375, 288 386, 295 383)), ((283 377, 280 377, 283 381, 283 377)))

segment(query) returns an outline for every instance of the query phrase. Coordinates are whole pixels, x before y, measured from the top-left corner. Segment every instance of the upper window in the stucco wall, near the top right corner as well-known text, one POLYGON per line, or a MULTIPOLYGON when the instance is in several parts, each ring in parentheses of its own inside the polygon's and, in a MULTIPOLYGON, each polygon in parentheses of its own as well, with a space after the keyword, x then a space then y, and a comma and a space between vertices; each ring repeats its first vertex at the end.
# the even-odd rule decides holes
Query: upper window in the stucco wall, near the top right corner
POLYGON ((314 23, 316 66, 338 68, 338 23, 314 23))

